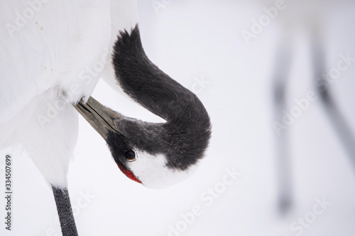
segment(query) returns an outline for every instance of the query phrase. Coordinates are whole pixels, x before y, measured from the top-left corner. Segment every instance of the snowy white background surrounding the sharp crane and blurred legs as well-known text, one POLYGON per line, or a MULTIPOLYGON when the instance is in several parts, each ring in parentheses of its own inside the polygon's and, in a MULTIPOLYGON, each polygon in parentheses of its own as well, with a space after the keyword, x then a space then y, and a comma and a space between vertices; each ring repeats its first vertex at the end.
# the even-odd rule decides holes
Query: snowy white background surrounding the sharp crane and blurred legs
MULTIPOLYGON (((355 169, 319 100, 289 129, 295 203, 288 215, 278 214, 271 74, 280 33, 271 22, 250 45, 241 36, 241 30, 250 29, 251 19, 273 2, 158 2, 166 5, 159 14, 151 1, 139 1, 143 46, 160 69, 198 90, 213 123, 207 158, 187 181, 158 191, 146 189, 119 171, 104 140, 80 118, 68 176, 80 235, 163 236, 178 224, 182 232, 170 235, 294 236, 290 225, 313 210, 316 198, 332 205, 302 235, 355 235, 355 169), (197 86, 197 79, 208 84, 197 86), (207 196, 209 188, 221 187, 226 169, 233 168, 241 176, 208 206, 211 202, 201 196, 207 196), (83 198, 87 193, 90 197, 83 198), (196 206, 201 214, 184 228, 181 214, 196 206)), ((291 6, 283 13, 288 11, 291 6)), ((341 53, 355 57, 354 11, 355 4, 339 2, 325 20, 329 68, 336 66, 341 53)), ((302 33, 296 36, 287 91, 290 107, 294 99, 314 89, 307 38, 302 33)), ((355 64, 332 84, 331 93, 355 132, 354 75, 355 64)), ((104 82, 97 84, 93 96, 126 116, 157 120, 104 82)), ((60 235, 53 194, 31 159, 13 150, 1 151, 1 179, 6 152, 13 155, 13 231, 4 230, 2 218, 0 235, 60 235)), ((0 190, 4 193, 4 184, 0 190)), ((1 199, 0 215, 4 215, 1 199)))

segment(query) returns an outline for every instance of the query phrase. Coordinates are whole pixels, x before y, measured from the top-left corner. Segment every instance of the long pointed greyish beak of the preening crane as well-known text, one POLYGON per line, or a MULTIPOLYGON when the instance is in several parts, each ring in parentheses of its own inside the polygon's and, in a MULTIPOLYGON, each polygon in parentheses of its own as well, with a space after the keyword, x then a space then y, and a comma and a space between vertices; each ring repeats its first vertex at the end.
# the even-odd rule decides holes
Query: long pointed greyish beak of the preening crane
POLYGON ((92 98, 92 96, 89 97, 87 103, 80 101, 77 105, 74 105, 74 107, 104 140, 107 140, 109 132, 121 133, 116 128, 116 125, 114 125, 114 119, 122 117, 110 108, 102 105, 102 103, 99 103, 92 98))

